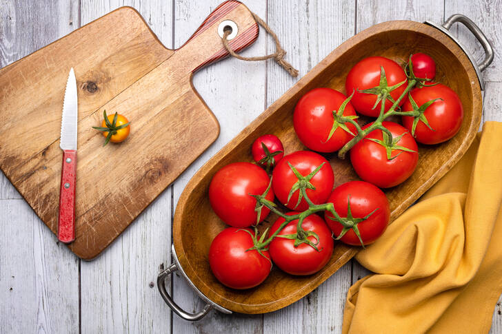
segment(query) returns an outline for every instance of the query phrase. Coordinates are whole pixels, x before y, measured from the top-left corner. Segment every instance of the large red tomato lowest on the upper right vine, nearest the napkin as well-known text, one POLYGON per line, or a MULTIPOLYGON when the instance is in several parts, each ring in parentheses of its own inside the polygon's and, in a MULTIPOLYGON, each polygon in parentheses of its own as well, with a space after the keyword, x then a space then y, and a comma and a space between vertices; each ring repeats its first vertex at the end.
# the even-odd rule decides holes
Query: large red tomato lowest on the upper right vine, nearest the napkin
MULTIPOLYGON (((369 127, 372 123, 363 127, 369 127)), ((350 150, 350 161, 357 175, 362 180, 373 183, 381 188, 394 187, 413 174, 419 162, 419 147, 416 145, 408 129, 393 122, 382 122, 392 134, 394 141, 401 135, 401 139, 391 149, 391 160, 388 159, 385 147, 371 139, 382 140, 383 134, 379 129, 367 134, 359 143, 350 150), (406 152, 403 149, 414 152, 406 152)))

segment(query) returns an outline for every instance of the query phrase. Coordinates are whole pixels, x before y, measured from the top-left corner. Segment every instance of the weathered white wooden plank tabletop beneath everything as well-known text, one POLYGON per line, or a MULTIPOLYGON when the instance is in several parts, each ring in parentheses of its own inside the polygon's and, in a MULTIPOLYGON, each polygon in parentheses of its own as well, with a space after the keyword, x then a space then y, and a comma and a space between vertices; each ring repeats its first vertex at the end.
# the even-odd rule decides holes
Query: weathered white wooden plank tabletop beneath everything
MULTIPOLYGON (((168 47, 179 47, 221 1, 190 0, 0 0, 0 67, 58 39, 119 6, 139 10, 168 47)), ((496 48, 485 73, 484 121, 502 121, 500 0, 248 0, 268 21, 302 76, 333 48, 374 23, 392 19, 443 21, 467 14, 496 48)), ((468 30, 454 32, 478 59, 483 57, 468 30)), ((262 34, 245 54, 273 52, 262 34)), ((272 62, 228 59, 194 76, 221 124, 221 134, 174 184, 141 214, 109 249, 81 262, 39 221, 21 196, 0 175, 0 333, 339 333, 345 293, 367 275, 351 262, 303 300, 265 315, 210 312, 190 323, 172 315, 157 292, 159 267, 170 264, 172 214, 192 175, 263 109, 288 90, 292 79, 272 62)), ((177 275, 170 282, 174 299, 189 311, 203 303, 177 275)), ((168 284, 169 287, 170 284, 168 284)), ((501 300, 502 302, 502 300, 501 300)), ((502 333, 501 306, 491 333, 502 333)))

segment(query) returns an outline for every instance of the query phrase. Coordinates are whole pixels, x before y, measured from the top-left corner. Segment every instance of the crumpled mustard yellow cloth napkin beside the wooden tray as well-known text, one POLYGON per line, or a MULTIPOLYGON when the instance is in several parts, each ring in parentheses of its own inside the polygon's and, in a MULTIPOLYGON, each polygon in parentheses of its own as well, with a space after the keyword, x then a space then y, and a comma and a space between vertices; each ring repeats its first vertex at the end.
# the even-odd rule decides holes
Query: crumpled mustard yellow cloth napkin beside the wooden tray
POLYGON ((502 123, 383 236, 348 291, 343 333, 487 333, 502 293, 502 123))

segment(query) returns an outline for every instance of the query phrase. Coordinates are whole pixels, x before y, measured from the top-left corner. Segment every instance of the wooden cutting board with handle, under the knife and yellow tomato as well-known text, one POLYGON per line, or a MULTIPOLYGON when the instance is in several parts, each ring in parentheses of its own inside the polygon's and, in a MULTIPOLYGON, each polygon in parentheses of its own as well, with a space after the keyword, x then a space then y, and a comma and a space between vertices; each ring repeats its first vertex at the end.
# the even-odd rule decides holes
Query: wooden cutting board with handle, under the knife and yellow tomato
POLYGON ((0 70, 0 168, 57 233, 61 111, 74 67, 77 239, 69 247, 80 258, 103 251, 216 140, 218 121, 192 74, 228 56, 218 33, 225 20, 237 24, 234 50, 257 39, 258 25, 239 1, 222 3, 177 50, 166 49, 136 10, 123 7, 0 70), (104 137, 92 129, 104 109, 130 120, 123 143, 103 147, 104 137))

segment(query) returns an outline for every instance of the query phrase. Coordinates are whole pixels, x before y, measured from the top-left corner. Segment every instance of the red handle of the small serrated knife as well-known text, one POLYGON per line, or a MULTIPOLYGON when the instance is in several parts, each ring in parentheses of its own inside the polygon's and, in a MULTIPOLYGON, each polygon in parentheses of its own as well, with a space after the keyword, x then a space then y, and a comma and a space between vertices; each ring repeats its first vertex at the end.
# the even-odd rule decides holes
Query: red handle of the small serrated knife
POLYGON ((66 244, 75 240, 75 183, 77 176, 77 151, 63 151, 61 188, 59 191, 59 220, 57 238, 66 244))

